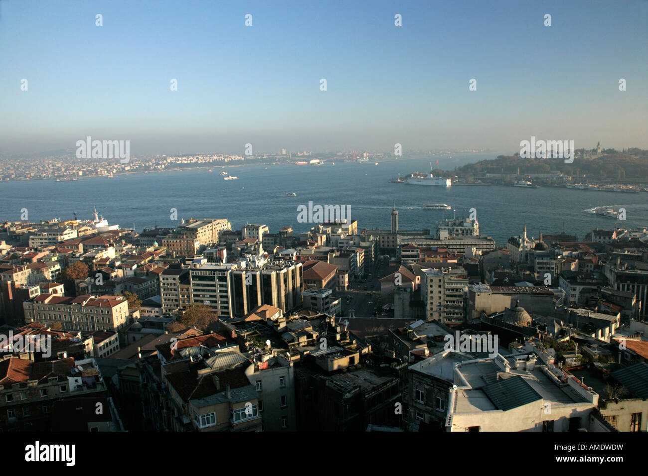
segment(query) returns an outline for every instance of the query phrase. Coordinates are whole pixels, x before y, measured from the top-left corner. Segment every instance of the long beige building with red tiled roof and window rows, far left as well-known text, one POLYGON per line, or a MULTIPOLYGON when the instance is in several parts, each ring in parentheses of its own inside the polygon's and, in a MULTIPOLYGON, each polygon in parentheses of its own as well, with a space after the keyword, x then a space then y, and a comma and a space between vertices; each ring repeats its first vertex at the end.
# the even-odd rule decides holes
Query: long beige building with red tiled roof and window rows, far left
POLYGON ((117 331, 126 326, 128 301, 122 296, 41 294, 23 302, 23 312, 27 323, 60 323, 64 330, 117 331))

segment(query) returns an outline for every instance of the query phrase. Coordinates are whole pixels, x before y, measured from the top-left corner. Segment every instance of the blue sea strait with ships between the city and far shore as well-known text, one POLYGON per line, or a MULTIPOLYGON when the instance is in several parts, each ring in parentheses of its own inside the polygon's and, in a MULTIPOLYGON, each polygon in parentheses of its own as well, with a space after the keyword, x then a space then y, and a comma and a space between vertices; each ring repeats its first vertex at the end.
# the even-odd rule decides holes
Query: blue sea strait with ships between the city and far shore
POLYGON ((358 229, 389 229, 393 207, 399 212, 399 229, 430 229, 443 218, 465 217, 475 209, 480 234, 505 246, 526 224, 527 236, 566 232, 583 239, 594 229, 648 227, 648 194, 598 192, 556 187, 498 186, 428 187, 389 183, 399 174, 428 172, 493 159, 493 154, 415 157, 393 161, 322 166, 278 164, 191 168, 124 174, 115 177, 80 177, 78 181, 3 181, 0 183, 0 220, 59 218, 91 219, 93 207, 108 222, 124 228, 175 227, 189 218, 227 218, 233 229, 246 223, 263 223, 270 232, 292 226, 295 233, 314 223, 298 221, 299 206, 349 206, 358 229), (439 164, 436 161, 439 160, 439 164), (226 170, 237 180, 225 181, 226 170), (297 196, 288 196, 294 192, 297 196), (447 203, 453 210, 426 210, 423 203, 447 203), (593 207, 626 210, 626 220, 616 222, 588 213, 593 207), (175 216, 178 220, 172 220, 175 216))

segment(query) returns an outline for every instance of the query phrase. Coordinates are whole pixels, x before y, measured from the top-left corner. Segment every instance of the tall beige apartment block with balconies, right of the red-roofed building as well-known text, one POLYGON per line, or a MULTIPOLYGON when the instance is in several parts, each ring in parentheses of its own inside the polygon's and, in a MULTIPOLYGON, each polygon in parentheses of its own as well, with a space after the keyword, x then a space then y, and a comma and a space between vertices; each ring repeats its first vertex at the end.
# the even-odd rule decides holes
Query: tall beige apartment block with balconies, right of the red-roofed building
POLYGON ((463 323, 468 274, 463 268, 426 269, 421 274, 421 298, 428 320, 447 326, 463 323))

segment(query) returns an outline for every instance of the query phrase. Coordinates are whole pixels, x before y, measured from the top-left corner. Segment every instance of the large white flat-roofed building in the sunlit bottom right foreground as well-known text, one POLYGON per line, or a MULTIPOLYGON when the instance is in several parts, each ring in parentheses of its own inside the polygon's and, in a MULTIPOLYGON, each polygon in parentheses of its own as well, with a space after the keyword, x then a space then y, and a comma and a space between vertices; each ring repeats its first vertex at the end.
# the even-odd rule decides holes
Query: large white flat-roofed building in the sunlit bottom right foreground
POLYGON ((537 341, 523 351, 453 366, 446 431, 590 429, 599 395, 554 365, 537 341))

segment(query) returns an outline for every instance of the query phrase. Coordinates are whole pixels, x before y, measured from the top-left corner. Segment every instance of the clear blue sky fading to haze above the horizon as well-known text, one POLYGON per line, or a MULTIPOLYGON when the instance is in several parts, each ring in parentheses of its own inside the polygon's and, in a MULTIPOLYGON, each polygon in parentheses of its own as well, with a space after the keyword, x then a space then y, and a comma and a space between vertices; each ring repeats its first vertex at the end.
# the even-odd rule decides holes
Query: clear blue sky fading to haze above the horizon
POLYGON ((134 155, 247 142, 512 153, 531 135, 648 148, 645 0, 0 0, 0 11, 0 155, 87 135, 128 139, 134 155))

